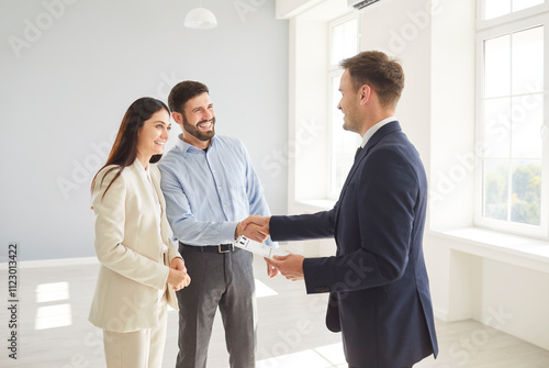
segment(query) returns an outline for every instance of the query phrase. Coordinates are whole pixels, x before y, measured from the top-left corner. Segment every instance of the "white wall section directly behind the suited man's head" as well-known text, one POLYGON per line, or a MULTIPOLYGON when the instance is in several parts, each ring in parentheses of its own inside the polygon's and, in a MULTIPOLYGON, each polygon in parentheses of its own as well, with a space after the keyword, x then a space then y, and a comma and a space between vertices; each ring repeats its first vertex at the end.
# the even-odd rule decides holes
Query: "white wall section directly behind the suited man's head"
POLYGON ((361 51, 379 49, 401 62, 405 87, 396 108, 396 118, 429 169, 430 149, 430 8, 425 0, 391 1, 360 18, 361 51))

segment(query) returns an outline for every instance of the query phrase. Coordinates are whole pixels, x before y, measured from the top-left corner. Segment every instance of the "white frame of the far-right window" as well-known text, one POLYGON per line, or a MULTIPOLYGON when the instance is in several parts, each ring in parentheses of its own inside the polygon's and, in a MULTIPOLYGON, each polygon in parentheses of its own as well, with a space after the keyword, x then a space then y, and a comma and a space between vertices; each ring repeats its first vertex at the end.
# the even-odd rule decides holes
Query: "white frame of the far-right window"
POLYGON ((477 153, 477 172, 475 172, 475 196, 474 196, 474 225, 479 227, 500 231, 503 233, 523 235, 549 239, 549 99, 547 90, 549 87, 549 3, 535 5, 506 15, 502 15, 489 21, 483 21, 484 1, 478 2, 478 14, 480 20, 477 22, 477 97, 475 97, 475 147, 482 149, 484 144, 483 123, 484 123, 484 42, 528 30, 535 26, 544 26, 544 129, 545 136, 542 142, 541 156, 541 199, 540 199, 540 225, 520 224, 511 221, 494 220, 483 216, 484 196, 483 196, 483 154, 477 153), (544 185, 545 183, 545 185, 544 185))

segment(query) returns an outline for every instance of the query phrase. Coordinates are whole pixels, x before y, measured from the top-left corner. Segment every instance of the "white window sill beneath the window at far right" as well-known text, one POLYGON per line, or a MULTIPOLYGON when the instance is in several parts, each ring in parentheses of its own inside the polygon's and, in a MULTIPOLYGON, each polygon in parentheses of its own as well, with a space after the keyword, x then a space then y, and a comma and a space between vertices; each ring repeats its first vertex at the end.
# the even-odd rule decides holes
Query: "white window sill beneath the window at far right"
POLYGON ((427 235, 451 241, 450 249, 549 274, 549 242, 495 231, 464 227, 427 231, 427 235))

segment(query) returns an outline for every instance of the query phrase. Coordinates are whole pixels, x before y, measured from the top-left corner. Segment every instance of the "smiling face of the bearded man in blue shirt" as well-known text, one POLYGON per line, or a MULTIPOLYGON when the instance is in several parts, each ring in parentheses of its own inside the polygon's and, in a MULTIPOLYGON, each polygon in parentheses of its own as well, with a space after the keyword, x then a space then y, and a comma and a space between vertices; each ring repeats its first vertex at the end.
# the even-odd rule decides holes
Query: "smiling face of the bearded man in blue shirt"
POLYGON ((195 96, 184 103, 182 127, 188 134, 183 135, 183 140, 191 141, 189 143, 195 146, 208 144, 215 135, 214 125, 215 111, 209 93, 195 96))

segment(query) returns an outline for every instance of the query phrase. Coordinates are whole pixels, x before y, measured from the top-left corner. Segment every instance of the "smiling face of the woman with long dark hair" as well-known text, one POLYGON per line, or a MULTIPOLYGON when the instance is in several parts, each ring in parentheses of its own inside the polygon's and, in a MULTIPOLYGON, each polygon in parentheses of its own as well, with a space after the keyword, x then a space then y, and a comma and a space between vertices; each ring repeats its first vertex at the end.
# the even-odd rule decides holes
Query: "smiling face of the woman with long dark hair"
POLYGON ((164 109, 155 112, 143 123, 137 132, 137 158, 142 164, 148 163, 154 155, 164 154, 164 145, 168 142, 170 129, 170 115, 164 109))

